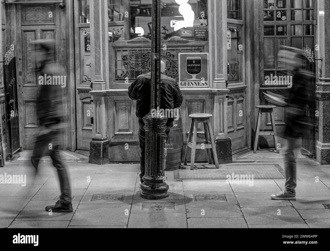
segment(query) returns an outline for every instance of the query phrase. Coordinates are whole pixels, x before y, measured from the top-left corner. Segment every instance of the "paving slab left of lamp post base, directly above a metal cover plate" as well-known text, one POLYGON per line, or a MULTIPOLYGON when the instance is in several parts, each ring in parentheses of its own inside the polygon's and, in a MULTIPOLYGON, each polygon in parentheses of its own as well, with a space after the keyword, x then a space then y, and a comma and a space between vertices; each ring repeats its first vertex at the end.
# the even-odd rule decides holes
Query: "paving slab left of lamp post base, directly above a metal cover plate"
POLYGON ((134 182, 96 182, 91 181, 87 189, 87 192, 104 192, 104 191, 113 191, 113 192, 133 192, 135 188, 134 182))

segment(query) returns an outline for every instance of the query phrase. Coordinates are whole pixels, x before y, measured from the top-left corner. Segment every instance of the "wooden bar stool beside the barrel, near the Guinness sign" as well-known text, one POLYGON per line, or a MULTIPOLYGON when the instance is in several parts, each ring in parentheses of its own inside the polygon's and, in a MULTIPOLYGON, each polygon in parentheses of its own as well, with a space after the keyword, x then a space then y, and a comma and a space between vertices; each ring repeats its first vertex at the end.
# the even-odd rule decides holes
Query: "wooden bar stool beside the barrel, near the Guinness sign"
MULTIPOLYGON (((209 161, 209 164, 212 164, 211 160, 211 151, 210 148, 212 148, 215 168, 219 168, 218 163, 218 157, 216 155, 215 151, 215 143, 213 139, 213 132, 211 127, 210 118, 212 117, 212 114, 208 113, 194 113, 190 114, 189 117, 191 118, 191 124, 190 124, 190 130, 188 134, 188 141, 187 141, 187 147, 186 152, 184 154, 184 165, 187 165, 188 161, 188 154, 189 154, 189 148, 191 148, 191 160, 190 160, 190 170, 194 170, 194 164, 195 164, 195 152, 196 149, 206 149, 207 150, 207 158, 209 161), (205 131, 205 143, 203 144, 196 144, 196 138, 197 138, 197 127, 199 123, 204 124, 204 131, 205 131), (192 141, 191 141, 192 137, 192 141)), ((200 143, 200 142, 198 142, 200 143)))

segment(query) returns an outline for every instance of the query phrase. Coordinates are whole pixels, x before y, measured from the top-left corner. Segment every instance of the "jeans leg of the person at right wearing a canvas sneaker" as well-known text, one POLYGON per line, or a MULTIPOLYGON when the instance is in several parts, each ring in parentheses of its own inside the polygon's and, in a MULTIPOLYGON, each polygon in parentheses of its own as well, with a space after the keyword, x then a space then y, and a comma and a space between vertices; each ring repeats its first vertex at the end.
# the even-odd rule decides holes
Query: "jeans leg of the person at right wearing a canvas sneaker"
POLYGON ((297 141, 297 137, 286 137, 287 146, 285 149, 285 189, 292 194, 296 193, 297 186, 297 172, 296 172, 296 160, 294 157, 294 145, 297 141))

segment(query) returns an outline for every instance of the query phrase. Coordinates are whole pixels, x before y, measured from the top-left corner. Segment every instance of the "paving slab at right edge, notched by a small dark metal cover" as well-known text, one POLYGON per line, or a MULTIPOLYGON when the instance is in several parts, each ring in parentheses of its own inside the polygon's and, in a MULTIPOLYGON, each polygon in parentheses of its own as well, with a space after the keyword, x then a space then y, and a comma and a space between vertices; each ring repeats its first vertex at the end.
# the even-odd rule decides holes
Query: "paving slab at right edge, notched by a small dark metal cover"
POLYGON ((330 204, 330 196, 296 196, 290 202, 296 209, 324 209, 322 204, 330 204))

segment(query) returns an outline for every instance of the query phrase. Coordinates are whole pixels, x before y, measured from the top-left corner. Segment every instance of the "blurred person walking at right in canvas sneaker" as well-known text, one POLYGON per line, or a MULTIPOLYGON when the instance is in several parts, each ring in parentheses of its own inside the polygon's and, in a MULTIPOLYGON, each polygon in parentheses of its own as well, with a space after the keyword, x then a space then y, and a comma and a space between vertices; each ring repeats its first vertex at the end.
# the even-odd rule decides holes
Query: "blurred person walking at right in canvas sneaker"
POLYGON ((306 57, 302 50, 287 47, 281 51, 285 64, 291 70, 292 87, 288 91, 287 102, 287 123, 284 131, 284 137, 287 140, 285 149, 285 189, 279 194, 272 194, 271 198, 275 200, 294 200, 296 199, 296 160, 294 156, 294 146, 302 136, 307 125, 307 108, 310 103, 312 84, 310 80, 313 77, 311 72, 304 70, 306 57))

